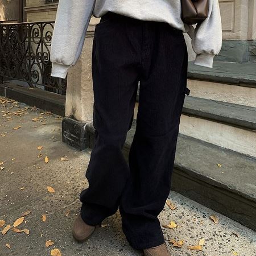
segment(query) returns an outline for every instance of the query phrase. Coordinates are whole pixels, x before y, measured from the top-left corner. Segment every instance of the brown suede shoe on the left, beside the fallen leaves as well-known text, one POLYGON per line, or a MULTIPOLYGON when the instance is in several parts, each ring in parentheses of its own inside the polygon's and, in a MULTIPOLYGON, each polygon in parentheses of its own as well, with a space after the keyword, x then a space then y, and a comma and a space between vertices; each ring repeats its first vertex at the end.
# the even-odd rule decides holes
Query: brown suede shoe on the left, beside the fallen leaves
POLYGON ((81 218, 81 215, 77 216, 73 225, 73 237, 78 242, 84 242, 95 230, 95 226, 87 225, 81 218))

